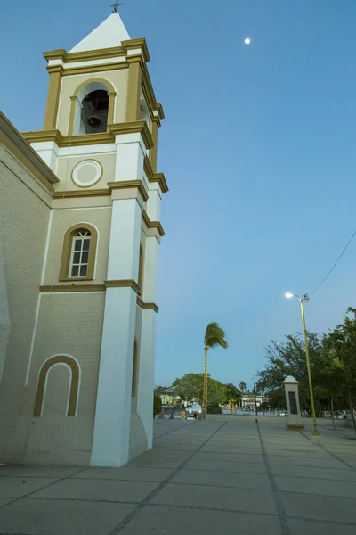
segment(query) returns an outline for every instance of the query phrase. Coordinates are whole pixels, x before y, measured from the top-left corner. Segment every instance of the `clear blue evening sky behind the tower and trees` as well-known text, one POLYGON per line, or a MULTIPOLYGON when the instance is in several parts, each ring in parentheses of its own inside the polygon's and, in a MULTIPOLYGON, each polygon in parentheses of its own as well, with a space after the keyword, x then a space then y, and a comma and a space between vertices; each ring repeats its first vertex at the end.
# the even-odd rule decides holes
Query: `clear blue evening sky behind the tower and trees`
MULTIPOLYGON (((76 45, 110 3, 2 7, 0 103, 20 131, 42 128, 42 52, 76 45)), ((251 385, 271 339, 300 330, 283 292, 312 293, 356 227, 356 2, 126 0, 121 17, 166 111, 156 383, 202 371, 217 321, 230 347, 210 373, 251 385)), ((356 306, 355 260, 356 239, 307 305, 311 331, 356 306)))

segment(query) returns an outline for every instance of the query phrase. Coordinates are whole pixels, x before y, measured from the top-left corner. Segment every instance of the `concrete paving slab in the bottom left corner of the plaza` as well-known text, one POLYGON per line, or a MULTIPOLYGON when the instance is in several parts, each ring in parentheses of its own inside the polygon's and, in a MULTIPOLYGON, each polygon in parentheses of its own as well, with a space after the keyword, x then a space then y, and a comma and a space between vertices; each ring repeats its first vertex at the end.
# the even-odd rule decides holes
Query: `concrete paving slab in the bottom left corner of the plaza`
POLYGON ((31 535, 108 535, 134 506, 22 499, 0 511, 1 530, 31 535))

